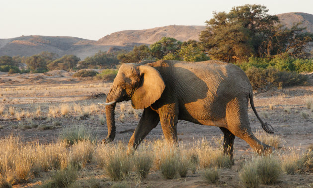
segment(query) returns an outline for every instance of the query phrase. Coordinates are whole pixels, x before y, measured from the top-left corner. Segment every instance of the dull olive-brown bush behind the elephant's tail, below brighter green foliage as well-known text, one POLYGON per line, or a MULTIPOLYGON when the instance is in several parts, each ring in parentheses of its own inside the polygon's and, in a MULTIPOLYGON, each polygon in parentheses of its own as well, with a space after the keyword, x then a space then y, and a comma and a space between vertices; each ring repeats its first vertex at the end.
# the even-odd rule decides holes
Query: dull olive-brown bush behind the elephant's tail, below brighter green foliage
POLYGON ((306 75, 297 72, 279 71, 274 67, 266 69, 250 67, 245 71, 253 89, 269 89, 271 87, 286 87, 303 84, 306 75))

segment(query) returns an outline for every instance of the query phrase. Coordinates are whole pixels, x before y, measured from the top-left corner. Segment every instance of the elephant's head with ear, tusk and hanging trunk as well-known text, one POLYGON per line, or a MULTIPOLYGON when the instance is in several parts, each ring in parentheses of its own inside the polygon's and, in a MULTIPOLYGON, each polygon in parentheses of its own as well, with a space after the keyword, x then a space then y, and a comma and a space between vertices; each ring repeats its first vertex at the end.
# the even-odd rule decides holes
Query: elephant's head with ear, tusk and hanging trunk
POLYGON ((165 89, 165 83, 157 69, 140 64, 123 64, 107 95, 105 107, 108 136, 103 142, 115 138, 114 110, 116 102, 132 100, 132 107, 144 109, 157 101, 165 89))

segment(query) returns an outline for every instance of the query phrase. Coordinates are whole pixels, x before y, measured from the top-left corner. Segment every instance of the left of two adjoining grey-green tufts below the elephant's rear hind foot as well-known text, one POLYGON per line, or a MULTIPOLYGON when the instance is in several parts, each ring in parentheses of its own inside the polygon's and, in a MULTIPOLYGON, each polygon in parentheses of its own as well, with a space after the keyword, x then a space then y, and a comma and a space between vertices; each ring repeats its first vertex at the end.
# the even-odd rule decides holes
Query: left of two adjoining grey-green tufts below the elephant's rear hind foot
POLYGON ((260 178, 255 163, 246 162, 239 172, 239 178, 244 187, 259 188, 260 178))

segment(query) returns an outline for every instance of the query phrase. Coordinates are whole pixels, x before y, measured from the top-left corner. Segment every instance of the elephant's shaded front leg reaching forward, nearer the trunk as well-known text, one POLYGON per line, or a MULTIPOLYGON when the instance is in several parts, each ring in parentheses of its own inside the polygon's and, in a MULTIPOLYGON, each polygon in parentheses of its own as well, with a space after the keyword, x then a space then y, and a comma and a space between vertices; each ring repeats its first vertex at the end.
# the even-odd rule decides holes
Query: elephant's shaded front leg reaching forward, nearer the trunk
POLYGON ((136 149, 140 142, 147 136, 147 134, 159 123, 160 118, 157 112, 151 110, 150 107, 145 108, 139 120, 139 123, 128 142, 128 151, 133 148, 136 149))

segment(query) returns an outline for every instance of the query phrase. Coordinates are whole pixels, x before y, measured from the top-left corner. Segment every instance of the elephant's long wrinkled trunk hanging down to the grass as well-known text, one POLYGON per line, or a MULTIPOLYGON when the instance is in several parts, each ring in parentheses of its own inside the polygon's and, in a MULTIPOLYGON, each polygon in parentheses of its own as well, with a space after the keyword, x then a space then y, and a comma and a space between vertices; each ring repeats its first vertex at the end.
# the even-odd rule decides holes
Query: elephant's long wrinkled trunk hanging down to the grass
MULTIPOLYGON (((109 103, 113 101, 111 99, 112 98, 108 96, 106 102, 109 103)), ((110 143, 115 138, 115 106, 116 103, 105 106, 106 120, 108 125, 108 136, 102 140, 103 143, 110 143)))

